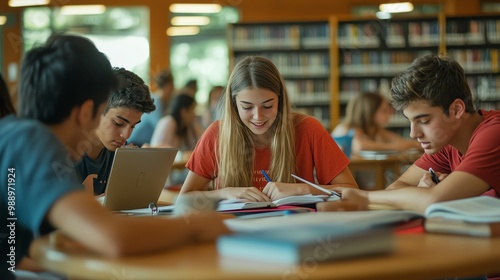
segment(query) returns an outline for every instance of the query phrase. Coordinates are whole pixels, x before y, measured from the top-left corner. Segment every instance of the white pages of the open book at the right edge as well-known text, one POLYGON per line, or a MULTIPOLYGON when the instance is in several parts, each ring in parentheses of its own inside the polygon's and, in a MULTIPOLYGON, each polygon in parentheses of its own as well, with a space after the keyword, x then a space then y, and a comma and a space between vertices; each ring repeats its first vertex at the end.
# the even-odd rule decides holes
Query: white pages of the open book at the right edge
POLYGON ((425 216, 468 222, 500 222, 500 199, 478 196, 434 203, 427 207, 425 216))

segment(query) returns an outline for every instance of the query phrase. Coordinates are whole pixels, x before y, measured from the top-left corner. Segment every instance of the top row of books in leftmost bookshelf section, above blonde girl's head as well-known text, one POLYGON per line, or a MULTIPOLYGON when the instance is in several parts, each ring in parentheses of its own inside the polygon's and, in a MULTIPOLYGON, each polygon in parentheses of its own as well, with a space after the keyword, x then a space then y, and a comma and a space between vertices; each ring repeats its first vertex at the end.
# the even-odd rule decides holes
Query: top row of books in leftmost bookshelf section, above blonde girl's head
POLYGON ((269 25, 239 26, 234 28, 235 49, 328 48, 330 34, 328 24, 317 25, 269 25))

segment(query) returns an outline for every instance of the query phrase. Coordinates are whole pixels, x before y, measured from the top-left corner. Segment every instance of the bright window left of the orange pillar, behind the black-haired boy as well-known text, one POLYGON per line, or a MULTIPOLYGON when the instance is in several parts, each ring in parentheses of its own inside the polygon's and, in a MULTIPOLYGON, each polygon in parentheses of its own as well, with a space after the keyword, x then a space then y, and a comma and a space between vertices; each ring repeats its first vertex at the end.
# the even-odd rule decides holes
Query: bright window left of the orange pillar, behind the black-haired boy
POLYGON ((99 14, 65 14, 61 7, 33 7, 23 12, 24 50, 43 44, 52 33, 72 33, 92 40, 113 67, 123 67, 149 83, 149 9, 105 7, 99 14))

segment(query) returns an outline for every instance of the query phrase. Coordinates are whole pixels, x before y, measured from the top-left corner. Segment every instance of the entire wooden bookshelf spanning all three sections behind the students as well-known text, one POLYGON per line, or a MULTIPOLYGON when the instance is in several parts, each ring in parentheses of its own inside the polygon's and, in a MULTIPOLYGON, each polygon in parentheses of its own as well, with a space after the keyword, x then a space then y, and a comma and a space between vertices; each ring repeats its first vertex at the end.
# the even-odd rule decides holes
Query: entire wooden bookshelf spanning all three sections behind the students
MULTIPOLYGON (((294 109, 330 131, 355 93, 388 96, 392 79, 430 53, 446 53, 464 67, 476 108, 500 109, 500 14, 238 23, 229 27, 228 42, 231 68, 247 55, 271 59, 294 109)), ((402 112, 395 113, 389 129, 409 135, 402 112)))

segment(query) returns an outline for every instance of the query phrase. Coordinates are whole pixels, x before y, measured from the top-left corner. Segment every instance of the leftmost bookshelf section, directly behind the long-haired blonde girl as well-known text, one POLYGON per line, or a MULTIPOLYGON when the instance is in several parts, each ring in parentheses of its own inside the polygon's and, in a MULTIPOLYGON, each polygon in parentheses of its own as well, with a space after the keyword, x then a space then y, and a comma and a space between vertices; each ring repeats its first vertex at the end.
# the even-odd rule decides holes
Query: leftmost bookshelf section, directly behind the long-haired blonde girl
POLYGON ((295 111, 330 129, 330 26, 322 22, 237 23, 228 28, 230 67, 259 55, 274 62, 295 111))

